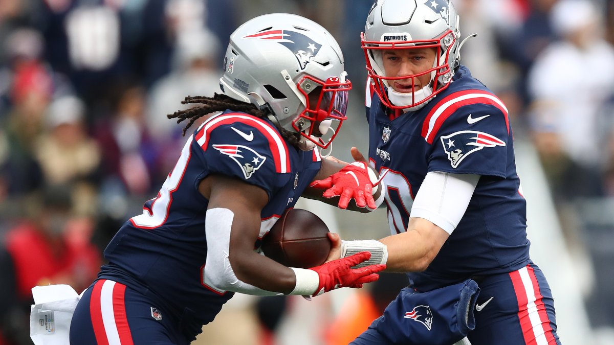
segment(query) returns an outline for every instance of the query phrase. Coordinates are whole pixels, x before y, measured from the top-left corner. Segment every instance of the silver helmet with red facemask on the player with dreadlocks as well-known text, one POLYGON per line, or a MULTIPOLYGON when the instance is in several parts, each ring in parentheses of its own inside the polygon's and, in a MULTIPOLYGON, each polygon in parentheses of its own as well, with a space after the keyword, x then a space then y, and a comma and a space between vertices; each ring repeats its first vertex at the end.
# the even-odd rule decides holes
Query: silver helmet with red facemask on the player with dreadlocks
POLYGON ((346 119, 348 92, 341 48, 326 29, 292 14, 267 14, 230 36, 220 89, 270 111, 271 121, 300 133, 301 149, 328 147, 346 119))

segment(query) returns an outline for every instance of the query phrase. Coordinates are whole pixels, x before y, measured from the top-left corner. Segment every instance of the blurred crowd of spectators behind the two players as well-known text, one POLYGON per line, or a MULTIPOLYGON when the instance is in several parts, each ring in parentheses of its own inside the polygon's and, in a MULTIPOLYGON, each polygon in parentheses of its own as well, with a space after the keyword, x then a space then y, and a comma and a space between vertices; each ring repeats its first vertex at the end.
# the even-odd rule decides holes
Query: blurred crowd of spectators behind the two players
MULTIPOLYGON (((591 324, 614 327, 614 277, 602 274, 614 260, 614 1, 453 1, 462 35, 478 34, 462 63, 537 150, 568 246, 594 273, 580 284, 591 324)), ((240 23, 273 12, 321 23, 341 44, 360 109, 372 2, 0 1, 0 345, 29 344, 31 287, 85 289, 115 231, 157 195, 185 140, 166 115, 185 96, 219 91, 240 23)), ((376 300, 373 315, 387 303, 376 300)), ((261 319, 284 303, 257 308, 261 319)))

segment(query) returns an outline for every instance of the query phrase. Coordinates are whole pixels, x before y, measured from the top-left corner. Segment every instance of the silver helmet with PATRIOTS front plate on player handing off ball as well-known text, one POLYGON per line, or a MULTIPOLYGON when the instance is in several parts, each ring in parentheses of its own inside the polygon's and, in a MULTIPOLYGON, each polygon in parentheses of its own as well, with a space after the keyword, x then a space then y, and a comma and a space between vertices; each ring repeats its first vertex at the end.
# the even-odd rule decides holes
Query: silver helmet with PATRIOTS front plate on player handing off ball
POLYGON ((460 64, 459 16, 449 0, 377 0, 360 36, 367 71, 381 101, 393 109, 418 110, 448 87, 460 64), (386 76, 382 52, 392 49, 435 48, 428 71, 386 76), (415 90, 417 77, 430 74, 430 83, 415 90), (390 80, 411 80, 412 91, 395 91, 390 80))

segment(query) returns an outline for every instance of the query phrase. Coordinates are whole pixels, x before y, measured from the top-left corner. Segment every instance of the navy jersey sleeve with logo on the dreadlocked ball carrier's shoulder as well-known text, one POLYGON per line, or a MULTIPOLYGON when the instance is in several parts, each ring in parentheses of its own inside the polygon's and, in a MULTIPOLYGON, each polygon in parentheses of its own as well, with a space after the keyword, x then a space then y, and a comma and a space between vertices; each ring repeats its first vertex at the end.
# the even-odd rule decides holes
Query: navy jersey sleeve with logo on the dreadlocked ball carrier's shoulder
POLYGON ((222 115, 196 133, 206 174, 235 177, 263 188, 269 197, 290 174, 287 143, 270 124, 251 115, 222 115))

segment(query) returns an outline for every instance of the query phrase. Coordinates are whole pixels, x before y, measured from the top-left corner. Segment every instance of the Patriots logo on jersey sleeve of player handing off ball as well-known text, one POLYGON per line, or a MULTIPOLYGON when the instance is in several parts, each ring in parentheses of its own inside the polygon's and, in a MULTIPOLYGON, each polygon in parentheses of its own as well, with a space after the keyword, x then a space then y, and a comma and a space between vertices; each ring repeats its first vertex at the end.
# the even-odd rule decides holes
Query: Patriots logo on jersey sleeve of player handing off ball
POLYGON ((448 136, 441 136, 441 144, 443 144, 443 150, 448 153, 452 168, 456 168, 471 153, 484 149, 484 147, 505 146, 505 141, 484 132, 459 131, 448 136))

